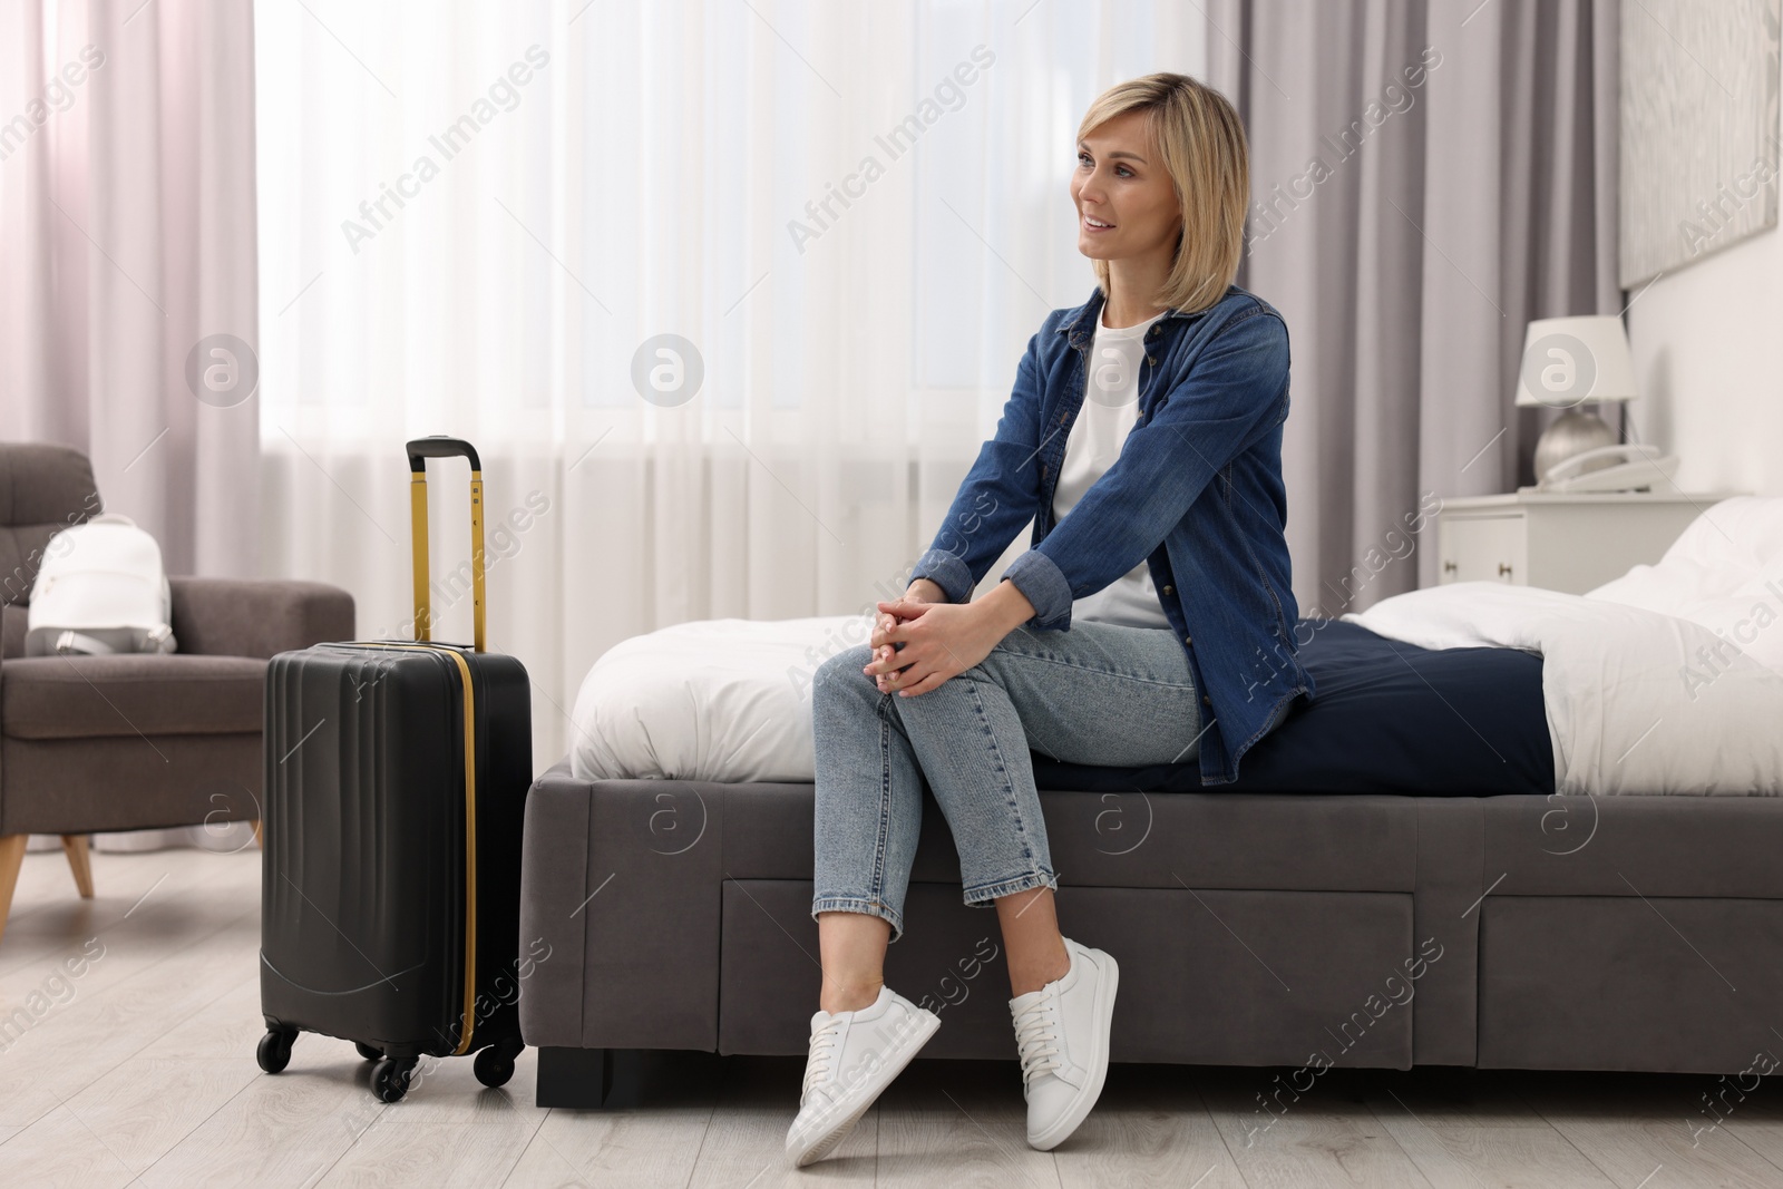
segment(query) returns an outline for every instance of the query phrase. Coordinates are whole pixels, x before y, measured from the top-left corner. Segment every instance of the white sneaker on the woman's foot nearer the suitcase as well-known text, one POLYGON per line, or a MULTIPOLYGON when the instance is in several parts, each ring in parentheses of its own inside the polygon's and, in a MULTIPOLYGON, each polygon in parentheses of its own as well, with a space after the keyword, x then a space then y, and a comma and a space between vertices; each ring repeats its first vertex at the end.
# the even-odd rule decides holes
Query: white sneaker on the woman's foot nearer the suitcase
POLYGON ((811 1016, 811 1054, 786 1153, 801 1168, 829 1155, 940 1027, 940 1016, 888 986, 858 1011, 811 1016))

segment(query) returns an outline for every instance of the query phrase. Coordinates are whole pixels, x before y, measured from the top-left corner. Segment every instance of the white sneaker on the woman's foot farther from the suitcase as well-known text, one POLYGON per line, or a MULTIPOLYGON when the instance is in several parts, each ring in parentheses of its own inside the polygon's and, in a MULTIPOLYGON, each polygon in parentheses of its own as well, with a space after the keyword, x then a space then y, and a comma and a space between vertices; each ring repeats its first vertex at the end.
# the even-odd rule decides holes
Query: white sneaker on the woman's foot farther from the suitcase
POLYGON ((1064 952, 1072 957, 1070 970, 1009 1000, 1022 1050, 1027 1143, 1041 1152, 1064 1143, 1102 1095, 1120 984, 1120 966, 1102 950, 1066 938, 1064 952))

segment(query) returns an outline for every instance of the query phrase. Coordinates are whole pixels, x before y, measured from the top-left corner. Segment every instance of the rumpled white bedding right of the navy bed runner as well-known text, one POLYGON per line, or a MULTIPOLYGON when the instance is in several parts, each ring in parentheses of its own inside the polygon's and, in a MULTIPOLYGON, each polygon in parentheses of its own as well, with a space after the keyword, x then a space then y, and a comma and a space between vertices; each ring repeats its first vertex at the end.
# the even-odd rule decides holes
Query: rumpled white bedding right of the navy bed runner
POLYGON ((1783 791, 1783 499, 1721 501, 1656 565, 1583 595, 1451 583, 1343 619, 1539 652, 1557 791, 1783 791))

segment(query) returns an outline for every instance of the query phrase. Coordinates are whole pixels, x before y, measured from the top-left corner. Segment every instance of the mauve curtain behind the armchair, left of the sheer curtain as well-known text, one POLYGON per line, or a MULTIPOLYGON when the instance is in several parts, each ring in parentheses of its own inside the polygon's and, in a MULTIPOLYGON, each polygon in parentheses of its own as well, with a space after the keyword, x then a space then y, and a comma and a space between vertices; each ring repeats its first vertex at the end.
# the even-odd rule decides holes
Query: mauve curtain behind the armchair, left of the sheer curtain
POLYGON ((260 569, 253 128, 251 0, 0 0, 0 437, 171 574, 260 569))

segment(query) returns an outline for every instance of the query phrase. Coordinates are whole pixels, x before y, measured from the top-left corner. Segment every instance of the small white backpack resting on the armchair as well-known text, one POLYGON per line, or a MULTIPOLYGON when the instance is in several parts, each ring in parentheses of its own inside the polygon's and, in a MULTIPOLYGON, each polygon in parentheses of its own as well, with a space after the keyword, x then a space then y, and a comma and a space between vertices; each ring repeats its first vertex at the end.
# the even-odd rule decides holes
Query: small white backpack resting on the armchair
POLYGON ((130 517, 64 528, 30 586, 25 656, 171 652, 173 597, 160 545, 130 517))

